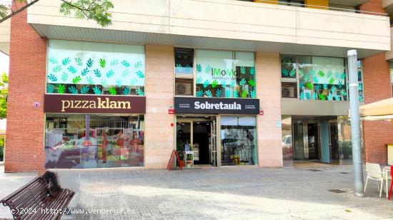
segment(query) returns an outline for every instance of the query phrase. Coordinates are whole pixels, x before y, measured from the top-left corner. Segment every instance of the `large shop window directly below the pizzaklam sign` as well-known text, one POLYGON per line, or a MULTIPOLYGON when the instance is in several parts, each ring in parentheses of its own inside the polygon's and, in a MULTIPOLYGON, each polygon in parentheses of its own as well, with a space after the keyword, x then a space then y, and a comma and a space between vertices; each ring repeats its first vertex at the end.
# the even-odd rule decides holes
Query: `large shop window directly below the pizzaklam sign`
POLYGON ((143 167, 144 115, 47 114, 45 151, 48 169, 143 167))

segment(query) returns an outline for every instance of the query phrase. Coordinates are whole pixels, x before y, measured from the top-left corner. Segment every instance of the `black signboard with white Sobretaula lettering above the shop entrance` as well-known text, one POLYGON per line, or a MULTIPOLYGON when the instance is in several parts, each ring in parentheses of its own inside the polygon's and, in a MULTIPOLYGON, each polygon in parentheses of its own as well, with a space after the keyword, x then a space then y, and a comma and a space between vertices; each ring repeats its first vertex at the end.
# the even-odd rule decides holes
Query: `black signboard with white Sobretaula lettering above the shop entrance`
POLYGON ((259 99, 175 97, 174 109, 179 114, 258 114, 259 99))

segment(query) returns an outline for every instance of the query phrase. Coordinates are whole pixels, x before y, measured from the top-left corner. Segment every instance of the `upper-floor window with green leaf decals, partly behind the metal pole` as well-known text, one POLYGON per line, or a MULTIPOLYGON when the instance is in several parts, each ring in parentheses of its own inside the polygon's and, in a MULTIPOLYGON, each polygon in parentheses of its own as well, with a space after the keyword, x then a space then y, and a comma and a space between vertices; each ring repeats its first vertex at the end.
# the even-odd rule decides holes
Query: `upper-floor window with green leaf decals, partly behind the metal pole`
MULTIPOLYGON (((282 98, 348 100, 344 58, 282 55, 281 66, 282 98)), ((363 95, 363 90, 359 92, 363 95)))

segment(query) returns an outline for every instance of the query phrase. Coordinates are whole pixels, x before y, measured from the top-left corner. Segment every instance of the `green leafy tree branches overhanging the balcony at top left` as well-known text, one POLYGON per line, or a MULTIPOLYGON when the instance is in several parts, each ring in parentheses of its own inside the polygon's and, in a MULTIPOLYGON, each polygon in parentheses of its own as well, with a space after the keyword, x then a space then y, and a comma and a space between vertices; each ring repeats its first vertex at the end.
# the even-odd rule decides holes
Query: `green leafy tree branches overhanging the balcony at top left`
MULTIPOLYGON (((0 4, 0 23, 36 4, 39 0, 14 0, 23 6, 11 8, 0 4)), ((64 16, 73 16, 77 19, 96 21, 100 26, 111 25, 110 9, 114 8, 111 0, 56 0, 60 1, 60 12, 64 16)))

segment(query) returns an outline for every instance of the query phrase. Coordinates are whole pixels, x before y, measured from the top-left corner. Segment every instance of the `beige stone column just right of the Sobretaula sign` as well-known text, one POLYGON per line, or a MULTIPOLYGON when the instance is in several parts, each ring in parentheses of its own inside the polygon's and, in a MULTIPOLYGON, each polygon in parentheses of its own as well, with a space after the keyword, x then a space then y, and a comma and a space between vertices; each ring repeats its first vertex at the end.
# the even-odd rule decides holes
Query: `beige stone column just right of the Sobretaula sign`
POLYGON ((282 167, 281 67, 279 53, 257 52, 257 98, 264 110, 258 115, 259 167, 282 167))

